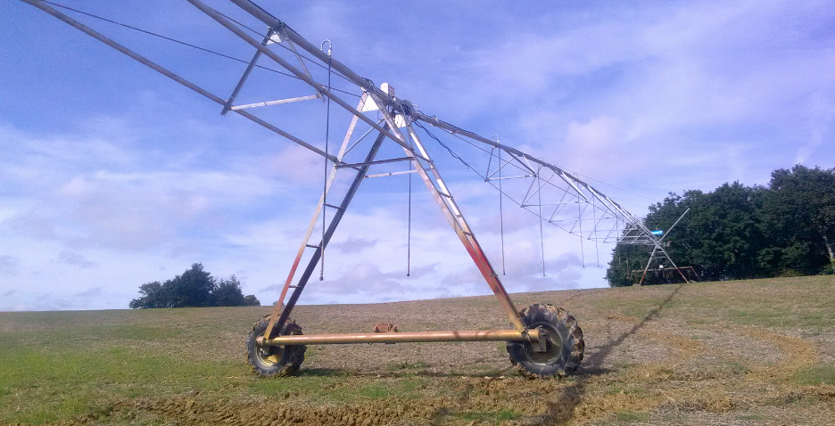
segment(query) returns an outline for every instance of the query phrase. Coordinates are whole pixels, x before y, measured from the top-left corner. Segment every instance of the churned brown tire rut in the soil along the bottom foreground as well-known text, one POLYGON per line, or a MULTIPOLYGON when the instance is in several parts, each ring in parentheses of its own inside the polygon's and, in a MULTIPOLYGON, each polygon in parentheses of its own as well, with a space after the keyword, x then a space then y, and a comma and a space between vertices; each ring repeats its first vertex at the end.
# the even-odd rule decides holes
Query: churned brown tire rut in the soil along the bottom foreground
MULTIPOLYGON (((440 385, 452 389, 453 395, 420 400, 389 398, 368 401, 363 406, 309 406, 304 401, 293 404, 293 396, 283 400, 267 398, 252 402, 205 401, 194 396, 178 396, 124 402, 114 409, 115 413, 108 415, 136 418, 139 414, 151 414, 159 420, 182 425, 469 425, 480 423, 469 421, 462 414, 492 413, 505 409, 503 403, 507 402, 508 394, 518 393, 519 389, 525 389, 524 392, 531 395, 549 395, 561 386, 559 381, 529 381, 521 377, 501 380, 447 378, 440 385)), ((547 408, 544 403, 531 403, 530 406, 519 407, 519 410, 534 414, 536 410, 542 412, 547 408)))

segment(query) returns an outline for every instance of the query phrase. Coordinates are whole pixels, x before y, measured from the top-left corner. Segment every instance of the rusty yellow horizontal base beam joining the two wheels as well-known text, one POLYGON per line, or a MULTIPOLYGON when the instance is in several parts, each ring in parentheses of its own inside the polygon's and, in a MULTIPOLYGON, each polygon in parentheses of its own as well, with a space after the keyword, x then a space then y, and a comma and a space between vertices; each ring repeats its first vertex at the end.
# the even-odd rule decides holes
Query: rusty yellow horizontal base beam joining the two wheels
POLYGON ((335 345, 350 343, 405 343, 438 341, 539 341, 539 329, 478 330, 455 332, 368 332, 355 334, 298 334, 278 336, 269 340, 258 338, 259 345, 335 345))

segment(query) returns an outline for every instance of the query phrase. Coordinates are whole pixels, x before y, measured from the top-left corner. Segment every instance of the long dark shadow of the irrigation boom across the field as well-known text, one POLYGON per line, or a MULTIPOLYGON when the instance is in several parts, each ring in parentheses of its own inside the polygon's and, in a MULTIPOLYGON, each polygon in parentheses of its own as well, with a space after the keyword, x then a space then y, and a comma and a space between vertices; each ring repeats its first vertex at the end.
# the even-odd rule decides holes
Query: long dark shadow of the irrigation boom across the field
POLYGON ((545 414, 525 419, 525 422, 523 423, 531 425, 564 424, 573 419, 576 407, 583 400, 583 395, 586 392, 586 386, 589 379, 591 379, 591 377, 610 373, 612 371, 603 367, 606 358, 608 358, 608 356, 610 356, 617 347, 622 345, 625 340, 640 331, 645 324, 655 319, 661 311, 664 310, 664 308, 667 307, 671 301, 673 301, 675 295, 682 290, 683 285, 684 284, 679 284, 673 292, 661 301, 661 303, 650 309, 647 315, 641 318, 641 321, 632 325, 632 328, 629 329, 629 331, 617 336, 615 340, 609 340, 607 344, 600 346, 597 350, 591 353, 591 355, 586 356, 584 358, 585 362, 583 363, 585 366, 581 367, 580 372, 571 379, 574 382, 571 385, 566 386, 558 397, 547 403, 548 411, 545 414))

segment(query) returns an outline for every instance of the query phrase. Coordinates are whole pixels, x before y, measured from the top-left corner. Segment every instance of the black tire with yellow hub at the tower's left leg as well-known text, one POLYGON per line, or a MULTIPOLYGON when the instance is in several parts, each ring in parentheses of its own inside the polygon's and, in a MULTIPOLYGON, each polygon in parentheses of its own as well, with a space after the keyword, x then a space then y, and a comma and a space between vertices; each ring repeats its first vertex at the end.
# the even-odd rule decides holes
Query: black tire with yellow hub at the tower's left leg
MULTIPOLYGON (((246 364, 252 365, 252 371, 261 377, 290 376, 299 373, 304 361, 304 345, 259 347, 255 339, 263 336, 269 325, 270 315, 264 316, 252 324, 252 332, 246 336, 246 364)), ((280 335, 302 334, 302 327, 293 321, 287 321, 280 335)))

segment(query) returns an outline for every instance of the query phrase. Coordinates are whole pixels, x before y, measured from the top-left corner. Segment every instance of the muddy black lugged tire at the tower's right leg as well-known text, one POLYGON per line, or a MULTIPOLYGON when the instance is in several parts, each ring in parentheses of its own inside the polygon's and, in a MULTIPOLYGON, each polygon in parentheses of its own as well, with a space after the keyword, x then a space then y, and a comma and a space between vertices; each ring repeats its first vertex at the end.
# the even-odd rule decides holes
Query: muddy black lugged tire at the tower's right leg
POLYGON ((534 304, 519 313, 522 323, 534 329, 542 327, 548 332, 545 352, 535 352, 528 341, 508 341, 510 362, 519 373, 529 379, 547 379, 575 373, 583 361, 583 330, 574 316, 562 307, 534 304))

